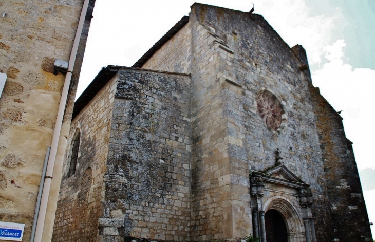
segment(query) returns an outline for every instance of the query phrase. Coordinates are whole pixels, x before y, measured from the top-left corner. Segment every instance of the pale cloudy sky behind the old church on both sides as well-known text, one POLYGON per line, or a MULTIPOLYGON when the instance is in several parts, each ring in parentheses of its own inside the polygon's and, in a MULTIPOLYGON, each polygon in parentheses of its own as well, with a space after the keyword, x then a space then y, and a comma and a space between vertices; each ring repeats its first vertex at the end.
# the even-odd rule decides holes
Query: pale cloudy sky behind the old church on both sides
MULTIPOLYGON (((190 0, 96 0, 78 94, 107 65, 132 66, 182 16, 190 0)), ((290 46, 307 52, 313 85, 336 111, 347 138, 375 223, 375 1, 201 0, 204 4, 261 14, 290 46), (373 113, 374 112, 374 113, 373 113)), ((375 228, 371 226, 372 234, 375 228)))

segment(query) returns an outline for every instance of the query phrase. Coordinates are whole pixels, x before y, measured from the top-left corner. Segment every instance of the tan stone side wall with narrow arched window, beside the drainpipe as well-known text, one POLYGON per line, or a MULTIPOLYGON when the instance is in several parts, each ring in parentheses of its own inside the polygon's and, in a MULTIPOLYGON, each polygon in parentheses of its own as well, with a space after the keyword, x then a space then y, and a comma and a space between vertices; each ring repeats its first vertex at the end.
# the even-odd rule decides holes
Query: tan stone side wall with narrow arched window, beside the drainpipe
POLYGON ((111 79, 72 120, 52 241, 96 241, 117 79, 111 79), (76 172, 69 177, 71 142, 81 133, 76 172))

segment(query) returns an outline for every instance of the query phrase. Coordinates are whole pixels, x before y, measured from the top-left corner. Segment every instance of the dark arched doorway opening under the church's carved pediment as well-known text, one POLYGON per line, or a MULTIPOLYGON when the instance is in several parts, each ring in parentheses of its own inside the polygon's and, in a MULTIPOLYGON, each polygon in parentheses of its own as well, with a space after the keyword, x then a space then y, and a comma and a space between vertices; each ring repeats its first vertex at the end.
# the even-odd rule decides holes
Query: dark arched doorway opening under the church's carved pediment
POLYGON ((270 209, 265 214, 267 242, 288 242, 287 226, 277 210, 270 209))

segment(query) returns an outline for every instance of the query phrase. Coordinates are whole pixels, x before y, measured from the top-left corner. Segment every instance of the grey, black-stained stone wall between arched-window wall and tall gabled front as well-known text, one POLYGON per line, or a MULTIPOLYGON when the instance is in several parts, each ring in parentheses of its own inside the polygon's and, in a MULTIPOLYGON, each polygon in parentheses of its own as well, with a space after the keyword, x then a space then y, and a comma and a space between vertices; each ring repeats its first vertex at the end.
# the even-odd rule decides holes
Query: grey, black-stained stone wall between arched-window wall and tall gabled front
POLYGON ((118 78, 100 241, 189 241, 190 76, 121 69, 118 78))

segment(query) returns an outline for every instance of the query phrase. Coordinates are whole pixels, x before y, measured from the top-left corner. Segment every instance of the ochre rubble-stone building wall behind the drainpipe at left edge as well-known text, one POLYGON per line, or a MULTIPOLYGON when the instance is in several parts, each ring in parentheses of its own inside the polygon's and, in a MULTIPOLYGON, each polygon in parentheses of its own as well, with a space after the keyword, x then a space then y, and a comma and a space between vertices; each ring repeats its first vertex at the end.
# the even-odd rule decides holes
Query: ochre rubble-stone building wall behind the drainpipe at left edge
MULTIPOLYGON (((48 204, 44 203, 46 222, 39 224, 43 241, 52 236, 66 137, 94 2, 83 11, 87 10, 87 15, 81 38, 78 35, 76 79, 69 91, 64 122, 60 120, 63 125, 56 137, 59 140, 60 136, 60 143, 53 147, 56 166, 47 178, 53 177, 50 191, 45 192, 50 195, 48 204)), ((82 6, 87 6, 83 0, 0 1, 0 221, 25 224, 22 241, 30 241, 47 147, 59 126, 65 75, 53 74, 54 62, 69 61, 82 6)), ((64 108, 61 110, 64 114, 64 108)))

